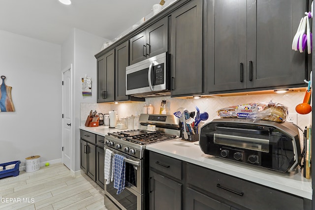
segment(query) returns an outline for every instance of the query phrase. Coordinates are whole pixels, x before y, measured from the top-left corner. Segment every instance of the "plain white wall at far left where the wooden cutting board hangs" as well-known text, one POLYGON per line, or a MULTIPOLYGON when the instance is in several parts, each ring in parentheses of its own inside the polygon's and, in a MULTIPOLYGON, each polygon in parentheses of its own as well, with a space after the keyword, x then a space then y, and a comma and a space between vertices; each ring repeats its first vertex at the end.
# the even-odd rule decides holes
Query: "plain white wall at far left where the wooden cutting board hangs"
POLYGON ((0 75, 15 112, 0 112, 0 163, 61 158, 61 46, 0 30, 0 75))

